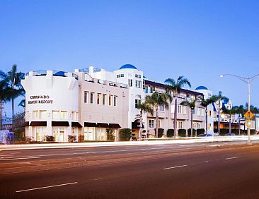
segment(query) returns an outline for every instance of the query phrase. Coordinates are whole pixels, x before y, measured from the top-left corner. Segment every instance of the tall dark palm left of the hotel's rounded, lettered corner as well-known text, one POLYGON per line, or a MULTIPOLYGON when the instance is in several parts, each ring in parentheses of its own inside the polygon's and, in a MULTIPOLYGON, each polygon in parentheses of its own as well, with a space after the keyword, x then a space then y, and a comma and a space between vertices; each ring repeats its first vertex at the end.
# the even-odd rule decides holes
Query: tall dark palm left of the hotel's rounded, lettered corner
POLYGON ((25 92, 21 85, 21 79, 24 78, 24 73, 17 72, 16 64, 13 65, 11 71, 8 72, 8 81, 9 86, 11 87, 10 97, 8 100, 11 100, 12 103, 12 131, 13 131, 13 116, 14 116, 14 99, 23 95, 25 92))

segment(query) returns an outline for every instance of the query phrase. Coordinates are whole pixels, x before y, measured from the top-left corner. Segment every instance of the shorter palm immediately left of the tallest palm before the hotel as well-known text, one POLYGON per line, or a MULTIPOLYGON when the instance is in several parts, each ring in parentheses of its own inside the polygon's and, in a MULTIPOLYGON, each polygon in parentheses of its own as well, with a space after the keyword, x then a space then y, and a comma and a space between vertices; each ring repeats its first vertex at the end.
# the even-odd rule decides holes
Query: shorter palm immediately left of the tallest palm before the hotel
POLYGON ((170 96, 166 93, 153 92, 152 95, 146 96, 146 103, 151 104, 156 111, 156 132, 155 137, 158 138, 159 134, 159 105, 168 107, 168 100, 170 96))

